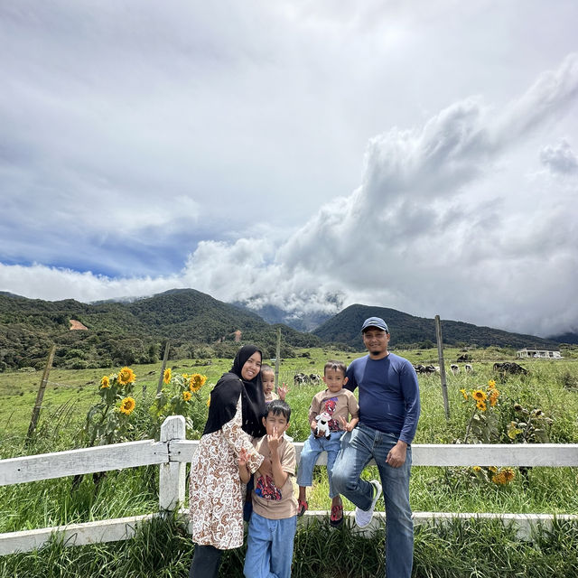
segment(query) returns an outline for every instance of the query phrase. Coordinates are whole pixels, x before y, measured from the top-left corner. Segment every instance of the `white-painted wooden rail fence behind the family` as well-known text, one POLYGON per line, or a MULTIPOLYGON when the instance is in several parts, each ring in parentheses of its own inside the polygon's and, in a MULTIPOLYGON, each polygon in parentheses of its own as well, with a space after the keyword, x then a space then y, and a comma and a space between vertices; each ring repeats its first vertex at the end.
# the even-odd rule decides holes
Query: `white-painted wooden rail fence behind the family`
MULTIPOLYGON (((295 443, 297 453, 303 443, 295 443)), ((159 465, 159 512, 144 516, 107 519, 62 527, 46 527, 21 532, 0 534, 0 555, 27 552, 45 544, 54 532, 61 533, 66 545, 85 545, 97 542, 126 540, 135 535, 136 527, 145 520, 180 509, 185 498, 185 471, 198 442, 185 440, 182 416, 167 418, 161 430, 161 441, 115 443, 96 448, 70 452, 12 458, 0 461, 0 486, 49 480, 92 473, 120 470, 144 465, 159 465)), ((412 458, 415 466, 578 466, 578 444, 526 445, 446 445, 414 444, 412 458)), ((327 463, 322 453, 319 464, 327 463)), ((307 512, 308 517, 327 516, 327 512, 307 512)), ((346 515, 350 515, 347 514, 346 515)), ((374 517, 374 527, 383 522, 383 513, 374 517)), ((499 518, 518 527, 518 536, 524 538, 536 524, 551 524, 554 516, 547 514, 455 514, 443 512, 415 512, 415 523, 461 518, 499 518)), ((558 519, 578 520, 575 515, 558 515, 558 519)), ((368 531, 371 531, 369 527, 368 531)))

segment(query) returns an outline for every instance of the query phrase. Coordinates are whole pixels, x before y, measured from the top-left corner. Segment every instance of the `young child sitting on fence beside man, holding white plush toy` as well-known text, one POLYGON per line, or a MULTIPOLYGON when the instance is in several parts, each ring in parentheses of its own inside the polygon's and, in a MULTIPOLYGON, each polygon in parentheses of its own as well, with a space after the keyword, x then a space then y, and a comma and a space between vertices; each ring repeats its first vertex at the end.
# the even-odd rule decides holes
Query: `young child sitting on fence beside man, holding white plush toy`
POLYGON ((343 389, 347 383, 346 365, 341 361, 328 361, 323 368, 323 381, 327 389, 316 394, 309 408, 309 423, 312 433, 303 443, 301 460, 297 471, 299 485, 299 501, 297 516, 303 516, 308 508, 306 487, 312 486, 313 466, 323 451, 327 452, 327 474, 329 478, 329 497, 331 498, 330 524, 338 527, 343 522, 343 504, 340 495, 332 484, 331 469, 340 451, 340 439, 344 432, 350 432, 359 422, 359 405, 356 397, 349 389, 343 389), (331 416, 329 421, 330 437, 317 436, 316 416, 325 412, 331 416), (351 421, 347 418, 351 415, 351 421))

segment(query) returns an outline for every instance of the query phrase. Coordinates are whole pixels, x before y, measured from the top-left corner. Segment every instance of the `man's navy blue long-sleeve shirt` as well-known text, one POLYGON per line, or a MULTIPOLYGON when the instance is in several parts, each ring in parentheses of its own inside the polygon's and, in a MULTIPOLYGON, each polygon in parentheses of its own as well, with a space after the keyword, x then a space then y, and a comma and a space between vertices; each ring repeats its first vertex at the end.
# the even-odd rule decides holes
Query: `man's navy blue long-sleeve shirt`
POLYGON ((405 358, 389 353, 383 359, 368 355, 354 359, 344 387, 359 387, 359 423, 412 443, 420 414, 415 369, 405 358))

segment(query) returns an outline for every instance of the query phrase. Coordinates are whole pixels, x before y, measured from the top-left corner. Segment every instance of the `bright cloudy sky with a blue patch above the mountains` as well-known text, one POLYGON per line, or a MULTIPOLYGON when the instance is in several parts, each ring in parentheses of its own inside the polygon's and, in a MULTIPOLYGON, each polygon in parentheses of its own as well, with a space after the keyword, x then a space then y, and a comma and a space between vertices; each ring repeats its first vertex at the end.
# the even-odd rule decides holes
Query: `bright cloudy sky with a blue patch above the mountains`
POLYGON ((574 0, 0 3, 0 290, 578 331, 574 0))

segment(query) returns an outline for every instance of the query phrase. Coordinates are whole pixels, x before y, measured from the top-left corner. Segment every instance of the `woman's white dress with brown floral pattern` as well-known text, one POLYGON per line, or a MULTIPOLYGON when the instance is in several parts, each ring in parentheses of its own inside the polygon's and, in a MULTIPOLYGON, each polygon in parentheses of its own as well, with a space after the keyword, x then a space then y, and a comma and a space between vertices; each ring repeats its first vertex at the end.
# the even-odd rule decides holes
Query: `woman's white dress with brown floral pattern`
POLYGON ((191 461, 190 512, 192 541, 229 550, 243 545, 243 499, 246 486, 238 475, 237 457, 241 448, 248 454, 247 466, 255 472, 263 461, 241 429, 239 396, 232 420, 220 430, 200 438, 191 461))

